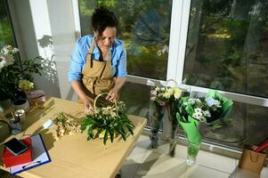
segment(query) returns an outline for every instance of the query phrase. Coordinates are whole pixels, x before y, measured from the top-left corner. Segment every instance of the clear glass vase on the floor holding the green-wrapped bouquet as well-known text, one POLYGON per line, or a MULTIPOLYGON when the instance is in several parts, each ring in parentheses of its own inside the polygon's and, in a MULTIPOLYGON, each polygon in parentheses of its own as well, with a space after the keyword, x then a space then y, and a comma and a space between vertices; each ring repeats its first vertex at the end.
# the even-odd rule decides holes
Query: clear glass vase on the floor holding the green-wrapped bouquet
POLYGON ((200 143, 188 142, 187 146, 187 159, 186 163, 189 166, 194 166, 196 164, 196 159, 199 154, 200 143))

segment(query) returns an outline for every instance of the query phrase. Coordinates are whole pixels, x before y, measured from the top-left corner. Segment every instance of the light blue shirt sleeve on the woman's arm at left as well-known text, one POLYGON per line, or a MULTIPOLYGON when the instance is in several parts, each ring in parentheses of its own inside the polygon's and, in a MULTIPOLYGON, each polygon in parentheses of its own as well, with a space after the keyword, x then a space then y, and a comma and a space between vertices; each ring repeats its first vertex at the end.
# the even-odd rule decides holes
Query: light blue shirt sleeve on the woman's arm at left
POLYGON ((81 53, 79 41, 77 41, 75 50, 71 55, 71 60, 69 63, 69 72, 68 72, 69 82, 81 80, 83 66, 84 66, 83 55, 81 53))

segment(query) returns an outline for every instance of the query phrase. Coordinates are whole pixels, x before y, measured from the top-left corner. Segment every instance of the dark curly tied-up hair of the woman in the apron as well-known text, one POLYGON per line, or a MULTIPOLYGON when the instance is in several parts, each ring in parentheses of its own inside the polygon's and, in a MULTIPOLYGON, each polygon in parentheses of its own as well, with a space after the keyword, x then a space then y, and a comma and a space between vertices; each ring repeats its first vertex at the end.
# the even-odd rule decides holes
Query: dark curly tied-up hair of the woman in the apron
POLYGON ((95 9, 91 17, 91 23, 94 31, 98 31, 100 35, 105 28, 118 28, 118 19, 114 12, 110 12, 105 7, 95 9))

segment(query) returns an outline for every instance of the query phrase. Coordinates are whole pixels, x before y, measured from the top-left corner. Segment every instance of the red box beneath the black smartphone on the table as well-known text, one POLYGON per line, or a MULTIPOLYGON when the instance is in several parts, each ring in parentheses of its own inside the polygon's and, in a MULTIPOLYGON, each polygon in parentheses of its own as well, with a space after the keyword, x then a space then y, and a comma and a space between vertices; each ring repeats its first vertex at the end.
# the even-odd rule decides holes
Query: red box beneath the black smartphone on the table
POLYGON ((5 167, 16 166, 32 161, 31 138, 28 137, 27 139, 21 140, 21 142, 25 143, 28 146, 28 150, 24 151, 20 155, 15 156, 11 151, 4 148, 2 160, 5 167))

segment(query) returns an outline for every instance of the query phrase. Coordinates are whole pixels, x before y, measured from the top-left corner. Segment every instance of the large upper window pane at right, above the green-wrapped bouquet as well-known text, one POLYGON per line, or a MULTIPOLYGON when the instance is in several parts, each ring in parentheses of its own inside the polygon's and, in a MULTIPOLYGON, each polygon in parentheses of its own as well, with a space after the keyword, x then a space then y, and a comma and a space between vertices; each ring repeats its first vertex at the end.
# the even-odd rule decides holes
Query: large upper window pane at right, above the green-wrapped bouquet
POLYGON ((268 1, 192 0, 183 78, 268 96, 268 1))

